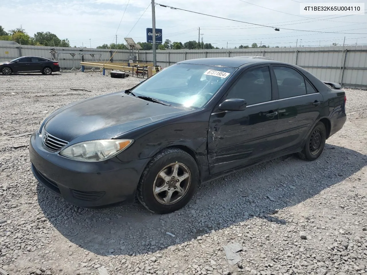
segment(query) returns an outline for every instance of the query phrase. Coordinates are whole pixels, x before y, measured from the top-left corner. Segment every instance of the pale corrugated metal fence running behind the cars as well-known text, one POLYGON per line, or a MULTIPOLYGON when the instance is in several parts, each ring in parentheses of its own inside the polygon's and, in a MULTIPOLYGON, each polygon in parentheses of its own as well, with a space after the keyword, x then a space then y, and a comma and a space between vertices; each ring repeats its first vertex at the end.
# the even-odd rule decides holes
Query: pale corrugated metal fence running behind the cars
MULTIPOLYGON (((101 60, 109 60, 115 50, 87 49, 87 48, 64 48, 55 47, 59 52, 59 64, 62 68, 80 68, 80 56, 63 53, 65 51, 95 52, 95 57, 101 60)), ((0 62, 7 61, 19 56, 34 55, 51 58, 51 47, 21 46, 9 44, 8 41, 0 41, 0 62)), ((119 50, 113 55, 114 62, 127 62, 131 52, 119 50)), ((134 53, 134 55, 136 55, 134 53)), ((204 50, 157 50, 157 65, 167 67, 176 62, 205 57, 232 57, 241 55, 269 56, 275 60, 297 64, 304 67, 310 73, 321 80, 342 82, 344 87, 367 89, 367 46, 348 46, 343 49, 336 47, 300 47, 295 48, 248 48, 248 49, 204 49, 204 50)), ((151 63, 152 51, 140 51, 139 60, 151 63)), ((84 55, 84 61, 91 62, 90 55, 84 55)))

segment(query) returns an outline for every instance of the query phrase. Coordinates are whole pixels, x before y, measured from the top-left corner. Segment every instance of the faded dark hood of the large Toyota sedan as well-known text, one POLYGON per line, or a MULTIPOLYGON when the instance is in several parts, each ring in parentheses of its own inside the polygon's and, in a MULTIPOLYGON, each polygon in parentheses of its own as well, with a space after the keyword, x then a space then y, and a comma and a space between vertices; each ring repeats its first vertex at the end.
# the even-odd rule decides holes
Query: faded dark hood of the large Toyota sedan
POLYGON ((110 139, 150 123, 188 113, 118 92, 97 96, 56 110, 44 124, 51 135, 68 142, 110 139))

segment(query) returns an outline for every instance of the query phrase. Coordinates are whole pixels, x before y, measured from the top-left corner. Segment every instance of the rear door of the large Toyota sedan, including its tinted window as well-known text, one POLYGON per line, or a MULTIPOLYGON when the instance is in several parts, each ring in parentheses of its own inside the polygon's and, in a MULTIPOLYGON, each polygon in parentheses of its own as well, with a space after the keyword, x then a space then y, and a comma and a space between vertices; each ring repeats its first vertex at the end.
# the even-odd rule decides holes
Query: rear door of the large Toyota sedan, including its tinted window
POLYGON ((301 145, 310 127, 319 118, 323 96, 297 70, 272 65, 279 92, 279 135, 281 151, 301 145))

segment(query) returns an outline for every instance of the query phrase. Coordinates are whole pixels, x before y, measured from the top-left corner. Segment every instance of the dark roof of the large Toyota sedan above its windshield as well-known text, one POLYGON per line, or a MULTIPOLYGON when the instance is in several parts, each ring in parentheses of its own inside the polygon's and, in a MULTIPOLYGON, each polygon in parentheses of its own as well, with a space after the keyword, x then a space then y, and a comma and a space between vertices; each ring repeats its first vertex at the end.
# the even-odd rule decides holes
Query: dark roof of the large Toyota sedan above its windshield
POLYGON ((277 63, 277 64, 288 64, 284 62, 279 62, 270 59, 260 59, 260 58, 248 58, 243 56, 233 57, 211 57, 211 58, 197 58, 197 59, 188 59, 184 61, 180 61, 177 63, 186 63, 186 64, 198 64, 198 65, 210 65, 210 66, 223 66, 223 67, 232 67, 239 68, 243 65, 250 64, 269 64, 269 63, 277 63))

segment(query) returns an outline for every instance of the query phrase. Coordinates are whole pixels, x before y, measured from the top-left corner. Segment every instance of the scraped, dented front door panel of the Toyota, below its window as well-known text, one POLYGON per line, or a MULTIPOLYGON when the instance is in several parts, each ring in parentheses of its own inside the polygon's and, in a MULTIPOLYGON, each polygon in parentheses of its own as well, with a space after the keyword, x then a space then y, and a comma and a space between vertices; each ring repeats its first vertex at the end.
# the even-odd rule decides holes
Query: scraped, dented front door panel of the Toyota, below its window
POLYGON ((273 150, 277 115, 267 116, 269 110, 277 108, 263 104, 211 115, 208 132, 211 174, 245 165, 273 150))

